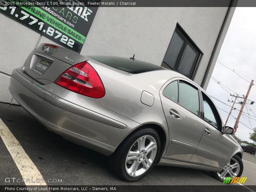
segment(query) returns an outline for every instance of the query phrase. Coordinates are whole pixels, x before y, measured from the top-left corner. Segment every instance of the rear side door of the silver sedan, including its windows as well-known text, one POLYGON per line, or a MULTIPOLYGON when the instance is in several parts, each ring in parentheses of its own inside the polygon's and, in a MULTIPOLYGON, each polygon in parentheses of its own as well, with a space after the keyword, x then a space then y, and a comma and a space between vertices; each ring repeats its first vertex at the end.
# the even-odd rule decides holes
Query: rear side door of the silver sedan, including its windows
POLYGON ((160 97, 170 138, 165 158, 188 162, 204 130, 198 87, 186 79, 173 78, 161 88, 160 97))

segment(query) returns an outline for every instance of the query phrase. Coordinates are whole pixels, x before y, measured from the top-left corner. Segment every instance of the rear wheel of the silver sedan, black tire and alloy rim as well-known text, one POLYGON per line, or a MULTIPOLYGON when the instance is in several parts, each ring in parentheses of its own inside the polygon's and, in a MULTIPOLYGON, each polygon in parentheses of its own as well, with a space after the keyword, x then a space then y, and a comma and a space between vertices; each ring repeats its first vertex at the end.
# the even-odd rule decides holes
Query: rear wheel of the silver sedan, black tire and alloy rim
POLYGON ((122 180, 134 182, 145 177, 153 169, 159 160, 160 151, 159 134, 155 129, 144 126, 132 132, 109 156, 109 167, 122 180))

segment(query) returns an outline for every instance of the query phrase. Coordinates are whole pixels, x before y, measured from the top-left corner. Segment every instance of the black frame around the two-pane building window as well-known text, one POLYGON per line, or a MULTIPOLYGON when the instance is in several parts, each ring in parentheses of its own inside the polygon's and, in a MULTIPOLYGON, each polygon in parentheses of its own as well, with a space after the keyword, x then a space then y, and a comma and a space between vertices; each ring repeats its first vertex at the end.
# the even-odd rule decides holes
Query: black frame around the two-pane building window
MULTIPOLYGON (((173 35, 174 35, 175 32, 178 34, 178 36, 180 36, 180 38, 184 41, 184 43, 186 43, 186 45, 188 44, 188 45, 197 53, 196 59, 195 59, 193 65, 192 65, 192 68, 191 68, 191 70, 190 70, 190 72, 189 72, 189 75, 188 75, 188 78, 189 78, 189 79, 194 80, 194 79, 195 79, 195 76, 196 76, 196 73, 197 73, 197 71, 198 71, 198 67, 199 67, 199 65, 200 65, 200 62, 201 62, 201 60, 202 60, 202 57, 203 57, 204 53, 199 49, 199 47, 195 44, 195 42, 188 36, 188 34, 185 32, 185 30, 180 26, 180 24, 179 24, 178 22, 177 22, 177 24, 176 24, 176 28, 175 28, 174 31, 173 31, 172 37, 173 37, 173 35)), ((167 49, 166 49, 166 51, 165 51, 164 58, 165 58, 166 53, 167 53, 167 51, 168 51, 168 49, 169 49, 169 47, 170 47, 170 44, 171 44, 171 41, 172 41, 172 37, 171 37, 170 42, 169 42, 169 44, 168 44, 168 47, 167 47, 167 49)), ((182 47, 183 47, 183 46, 185 46, 185 45, 183 44, 182 47)), ((183 48, 181 48, 181 50, 182 50, 182 49, 183 49, 183 48)), ((183 57, 184 53, 185 53, 185 49, 183 50, 182 53, 179 53, 178 56, 177 56, 177 60, 179 60, 179 64, 180 64, 180 62, 181 62, 181 60, 182 60, 182 57, 183 57)), ((167 68, 167 69, 171 69, 171 70, 173 70, 173 71, 178 72, 178 71, 175 69, 175 66, 177 65, 177 61, 176 61, 175 65, 174 65, 174 68, 172 68, 172 67, 170 67, 170 66, 164 61, 164 58, 163 58, 163 60, 162 60, 161 67, 164 67, 164 68, 167 68)))

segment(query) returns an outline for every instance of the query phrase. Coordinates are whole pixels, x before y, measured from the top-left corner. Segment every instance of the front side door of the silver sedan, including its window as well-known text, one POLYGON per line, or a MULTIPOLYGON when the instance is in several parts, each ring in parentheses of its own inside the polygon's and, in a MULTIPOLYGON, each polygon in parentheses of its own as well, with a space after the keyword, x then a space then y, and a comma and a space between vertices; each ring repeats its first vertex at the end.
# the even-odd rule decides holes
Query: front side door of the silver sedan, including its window
POLYGON ((191 163, 211 167, 223 167, 226 164, 225 152, 230 145, 227 136, 221 132, 222 121, 210 98, 202 92, 204 132, 191 163))

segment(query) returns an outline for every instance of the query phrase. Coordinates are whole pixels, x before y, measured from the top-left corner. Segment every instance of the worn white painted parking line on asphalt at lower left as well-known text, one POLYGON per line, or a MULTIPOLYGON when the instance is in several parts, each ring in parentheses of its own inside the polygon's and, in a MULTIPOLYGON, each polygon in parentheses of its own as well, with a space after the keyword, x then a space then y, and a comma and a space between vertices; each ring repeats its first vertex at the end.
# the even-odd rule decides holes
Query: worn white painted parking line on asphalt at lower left
MULTIPOLYGON (((36 165, 28 157, 19 141, 13 136, 12 132, 0 119, 0 136, 4 141, 6 148, 17 165, 24 183, 26 185, 47 185, 36 165), (39 182, 37 182, 39 181, 39 182)), ((15 177, 15 176, 14 176, 15 177)), ((18 179, 18 178, 17 178, 18 179)), ((22 182, 23 183, 23 182, 22 182)), ((19 183, 15 183, 16 185, 19 183)))

